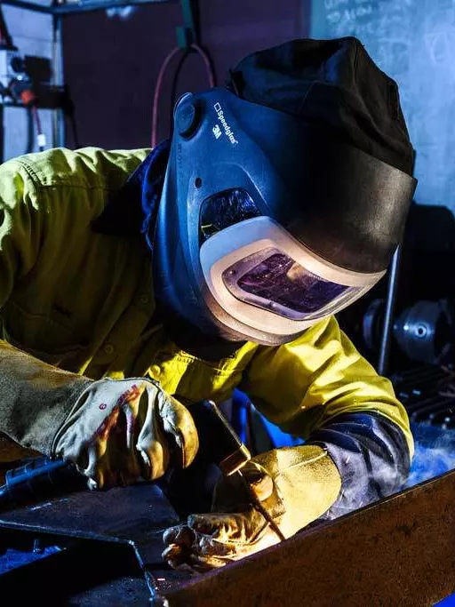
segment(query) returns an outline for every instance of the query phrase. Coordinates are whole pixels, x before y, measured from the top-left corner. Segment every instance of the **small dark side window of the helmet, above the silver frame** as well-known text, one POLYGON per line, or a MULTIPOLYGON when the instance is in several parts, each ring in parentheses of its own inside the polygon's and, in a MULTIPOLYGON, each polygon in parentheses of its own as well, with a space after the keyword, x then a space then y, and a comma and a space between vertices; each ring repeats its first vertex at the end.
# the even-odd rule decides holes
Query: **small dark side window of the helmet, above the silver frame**
POLYGON ((201 205, 199 245, 220 230, 259 215, 257 206, 244 189, 229 189, 210 196, 201 205))

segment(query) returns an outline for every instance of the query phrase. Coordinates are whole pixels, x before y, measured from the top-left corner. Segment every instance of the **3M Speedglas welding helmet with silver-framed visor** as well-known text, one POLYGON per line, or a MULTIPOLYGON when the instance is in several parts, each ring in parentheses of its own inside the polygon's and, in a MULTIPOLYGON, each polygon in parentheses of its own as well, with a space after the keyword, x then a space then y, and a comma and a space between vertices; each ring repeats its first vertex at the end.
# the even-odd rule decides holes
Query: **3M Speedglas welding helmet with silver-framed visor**
MULTIPOLYGON (((352 60, 353 48, 363 49, 354 38, 294 41, 293 50, 268 51, 274 69, 283 47, 307 57, 308 43, 315 44, 313 61, 325 64, 337 51, 339 60, 352 60)), ((260 98, 261 85, 270 96, 270 74, 267 85, 260 78, 250 85, 251 99, 245 80, 248 69, 257 76, 258 57, 252 67, 243 61, 236 83, 232 73, 230 86, 188 93, 176 105, 154 238, 156 297, 206 335, 278 345, 384 276, 416 181, 409 140, 404 151, 390 150, 384 133, 376 146, 368 133, 365 151, 362 137, 349 139, 330 120, 311 116, 309 105, 303 111, 310 93, 302 96, 301 86, 291 92, 298 112, 260 98)), ((372 62, 370 68, 390 95, 393 81, 372 62)), ((294 65, 291 76, 301 84, 298 71, 294 65)), ((341 71, 331 77, 346 77, 341 71)), ((390 103, 403 122, 397 95, 390 103)), ((327 103, 320 111, 337 119, 335 107, 340 101, 332 112, 327 103)))

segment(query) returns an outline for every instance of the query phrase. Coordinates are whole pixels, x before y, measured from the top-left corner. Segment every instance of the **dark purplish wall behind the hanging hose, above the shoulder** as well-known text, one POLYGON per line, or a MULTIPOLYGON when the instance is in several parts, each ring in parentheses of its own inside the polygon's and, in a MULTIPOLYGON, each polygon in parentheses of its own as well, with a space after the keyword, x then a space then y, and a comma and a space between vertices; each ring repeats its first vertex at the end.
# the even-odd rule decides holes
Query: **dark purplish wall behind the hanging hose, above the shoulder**
MULTIPOLYGON (((219 83, 245 54, 307 36, 308 0, 200 0, 202 42, 219 83)), ((89 12, 65 18, 65 81, 76 104, 80 144, 140 148, 150 142, 152 100, 161 63, 176 45, 179 2, 137 8, 127 20, 89 12)), ((159 139, 169 130, 172 62, 164 80, 159 139)), ((208 87, 202 60, 190 56, 179 92, 208 87)), ((70 133, 68 146, 73 147, 70 133)))

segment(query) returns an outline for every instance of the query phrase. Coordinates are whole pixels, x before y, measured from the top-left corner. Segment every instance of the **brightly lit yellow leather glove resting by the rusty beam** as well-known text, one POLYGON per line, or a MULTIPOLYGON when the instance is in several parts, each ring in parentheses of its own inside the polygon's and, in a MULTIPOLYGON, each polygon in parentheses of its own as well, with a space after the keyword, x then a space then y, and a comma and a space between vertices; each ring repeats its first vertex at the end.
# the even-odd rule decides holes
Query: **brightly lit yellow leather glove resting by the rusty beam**
POLYGON ((191 515, 164 532, 163 557, 172 567, 199 571, 220 567, 280 541, 312 523, 339 495, 339 471, 317 445, 261 453, 238 473, 222 476, 213 493, 212 513, 191 515), (251 492, 259 506, 255 507, 251 492))

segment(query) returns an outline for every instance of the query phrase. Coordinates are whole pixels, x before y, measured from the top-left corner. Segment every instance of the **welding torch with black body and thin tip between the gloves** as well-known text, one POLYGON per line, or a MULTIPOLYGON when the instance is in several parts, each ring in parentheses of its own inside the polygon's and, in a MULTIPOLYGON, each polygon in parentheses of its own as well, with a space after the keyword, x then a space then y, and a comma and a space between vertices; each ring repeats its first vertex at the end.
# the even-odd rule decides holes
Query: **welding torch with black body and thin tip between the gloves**
MULTIPOLYGON (((195 421, 199 437, 197 457, 210 460, 224 475, 240 475, 251 499, 251 505, 264 516, 278 538, 283 540, 283 533, 267 509, 262 506, 253 485, 242 473, 242 468, 250 461, 251 454, 235 434, 228 419, 219 407, 209 400, 189 405, 188 411, 195 421)), ((188 470, 190 468, 191 466, 188 470)), ((179 471, 180 478, 183 479, 186 473, 186 470, 179 471)), ((77 470, 75 464, 64 459, 47 457, 31 459, 23 466, 6 472, 5 483, 0 487, 0 508, 45 499, 56 492, 82 491, 86 489, 86 483, 87 478, 77 470)), ((163 483, 157 484, 177 512, 181 511, 178 492, 172 494, 172 491, 166 491, 163 483)), ((179 482, 174 483, 174 486, 178 487, 179 482)))

